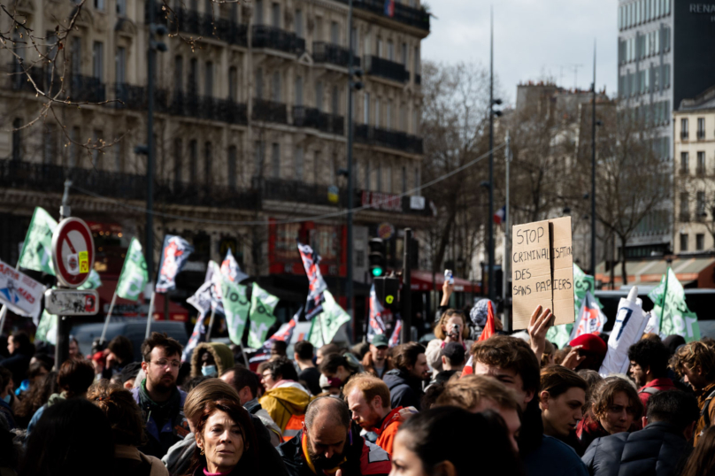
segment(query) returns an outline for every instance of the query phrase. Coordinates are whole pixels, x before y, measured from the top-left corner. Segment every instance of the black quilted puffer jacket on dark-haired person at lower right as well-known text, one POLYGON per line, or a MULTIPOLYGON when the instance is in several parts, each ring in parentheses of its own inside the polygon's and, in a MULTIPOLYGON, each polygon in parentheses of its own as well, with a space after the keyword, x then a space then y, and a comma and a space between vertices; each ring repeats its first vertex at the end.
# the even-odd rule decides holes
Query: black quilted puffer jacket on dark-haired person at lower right
POLYGON ((641 431, 596 438, 582 460, 591 476, 676 476, 690 451, 682 432, 658 421, 641 431))

